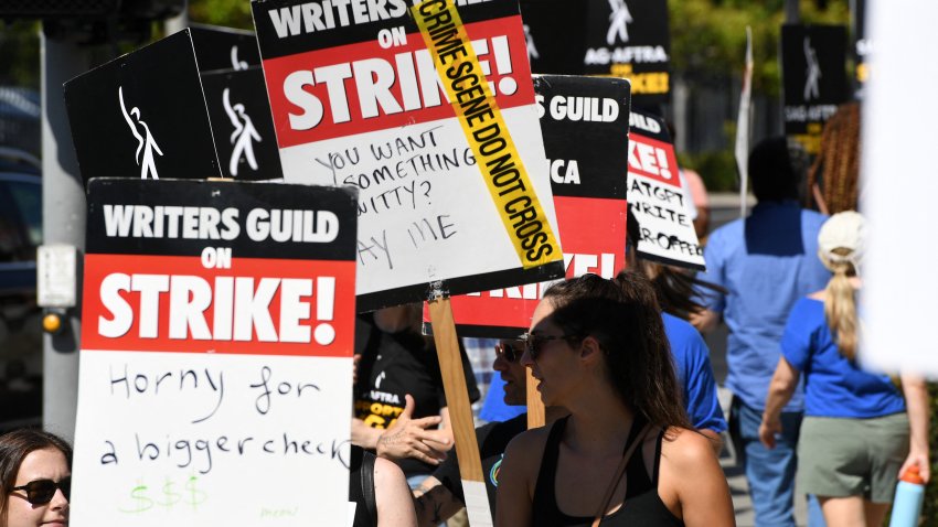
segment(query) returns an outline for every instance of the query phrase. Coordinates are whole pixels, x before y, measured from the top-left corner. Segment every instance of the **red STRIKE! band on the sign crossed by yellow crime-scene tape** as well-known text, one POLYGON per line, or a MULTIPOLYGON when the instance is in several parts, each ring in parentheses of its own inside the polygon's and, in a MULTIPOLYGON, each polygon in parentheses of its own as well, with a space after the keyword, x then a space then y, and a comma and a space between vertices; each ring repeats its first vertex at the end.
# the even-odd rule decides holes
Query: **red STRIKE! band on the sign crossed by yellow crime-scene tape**
MULTIPOLYGON (((499 108, 530 105, 534 89, 518 17, 466 24, 466 31, 499 108)), ((384 44, 374 40, 264 61, 279 147, 454 117, 419 33, 402 32, 384 44)), ((444 80, 462 87, 471 79, 444 80)))

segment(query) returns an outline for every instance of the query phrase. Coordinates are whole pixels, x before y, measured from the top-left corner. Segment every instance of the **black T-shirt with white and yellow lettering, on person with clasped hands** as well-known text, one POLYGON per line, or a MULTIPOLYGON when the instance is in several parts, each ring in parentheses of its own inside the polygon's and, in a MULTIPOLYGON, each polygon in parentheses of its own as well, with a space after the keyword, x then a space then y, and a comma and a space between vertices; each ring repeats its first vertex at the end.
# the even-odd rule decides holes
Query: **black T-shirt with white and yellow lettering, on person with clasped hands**
MULTIPOLYGON (((436 347, 431 338, 416 332, 384 333, 374 326, 371 314, 355 324, 355 353, 362 354, 355 385, 354 415, 372 428, 386 429, 404 411, 404 395, 414 397, 414 419, 438 416, 446 407, 446 394, 436 347)), ((460 345, 469 400, 479 399, 479 387, 460 345)), ((415 459, 397 463, 406 476, 429 474, 434 466, 415 459)))

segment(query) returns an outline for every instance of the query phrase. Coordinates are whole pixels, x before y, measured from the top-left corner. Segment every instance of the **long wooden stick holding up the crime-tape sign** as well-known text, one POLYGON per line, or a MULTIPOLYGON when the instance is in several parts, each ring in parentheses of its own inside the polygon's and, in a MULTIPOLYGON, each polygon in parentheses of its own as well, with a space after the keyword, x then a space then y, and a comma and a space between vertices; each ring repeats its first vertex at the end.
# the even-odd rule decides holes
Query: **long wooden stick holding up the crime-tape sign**
POLYGON ((482 461, 479 444, 476 441, 476 427, 472 421, 472 408, 469 405, 469 391, 462 372, 462 358, 459 355, 459 342, 456 324, 452 322, 452 308, 448 297, 429 301, 430 324, 434 329, 434 343, 439 357, 439 372, 443 375, 443 388, 446 391, 446 406, 456 439, 456 454, 459 456, 459 475, 462 478, 462 494, 466 496, 466 509, 472 527, 491 527, 492 512, 489 508, 489 495, 482 477, 482 461))

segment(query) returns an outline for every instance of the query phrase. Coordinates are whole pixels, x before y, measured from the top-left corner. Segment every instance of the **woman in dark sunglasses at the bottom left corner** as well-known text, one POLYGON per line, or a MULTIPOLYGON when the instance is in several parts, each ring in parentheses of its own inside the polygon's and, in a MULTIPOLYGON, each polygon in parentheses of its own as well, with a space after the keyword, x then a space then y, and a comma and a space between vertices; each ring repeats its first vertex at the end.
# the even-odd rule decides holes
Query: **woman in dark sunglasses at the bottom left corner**
POLYGON ((42 430, 0 435, 0 527, 68 525, 72 447, 42 430))

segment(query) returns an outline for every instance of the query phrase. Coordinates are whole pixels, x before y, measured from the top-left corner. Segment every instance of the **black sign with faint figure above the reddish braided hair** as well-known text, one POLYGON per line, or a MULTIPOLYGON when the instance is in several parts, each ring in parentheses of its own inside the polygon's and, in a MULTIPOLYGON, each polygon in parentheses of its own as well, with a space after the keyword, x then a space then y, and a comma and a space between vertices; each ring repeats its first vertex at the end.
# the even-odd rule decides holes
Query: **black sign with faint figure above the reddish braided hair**
POLYGON ((781 28, 781 69, 785 88, 785 132, 817 152, 823 123, 848 98, 846 28, 797 25, 781 28))

